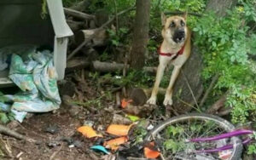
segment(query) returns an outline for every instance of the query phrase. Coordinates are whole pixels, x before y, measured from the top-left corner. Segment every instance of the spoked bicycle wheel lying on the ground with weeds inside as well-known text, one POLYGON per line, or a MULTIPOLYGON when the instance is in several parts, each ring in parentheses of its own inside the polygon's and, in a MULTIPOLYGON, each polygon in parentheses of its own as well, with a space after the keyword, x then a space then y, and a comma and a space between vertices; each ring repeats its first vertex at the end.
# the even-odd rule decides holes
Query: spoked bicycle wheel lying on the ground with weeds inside
POLYGON ((173 160, 215 160, 224 159, 220 156, 228 153, 226 159, 239 160, 241 158, 242 145, 238 137, 225 140, 190 142, 199 137, 210 137, 233 131, 235 127, 221 117, 192 113, 172 117, 160 123, 152 129, 145 140, 155 141, 161 153, 166 159, 173 160), (233 144, 228 151, 216 151, 207 153, 207 149, 233 144))

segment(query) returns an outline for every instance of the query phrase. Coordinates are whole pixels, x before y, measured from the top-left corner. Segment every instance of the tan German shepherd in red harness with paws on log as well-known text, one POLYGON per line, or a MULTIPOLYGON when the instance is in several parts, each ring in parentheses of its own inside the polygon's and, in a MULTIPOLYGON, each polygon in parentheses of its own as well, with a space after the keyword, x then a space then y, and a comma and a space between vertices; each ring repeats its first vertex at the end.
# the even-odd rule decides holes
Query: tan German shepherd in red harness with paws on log
POLYGON ((161 35, 163 42, 158 49, 159 66, 157 68, 154 88, 152 90, 151 97, 147 101, 150 105, 156 104, 156 96, 158 93, 161 78, 164 75, 166 66, 171 62, 174 66, 172 76, 168 88, 166 89, 164 106, 172 106, 172 89, 177 79, 177 76, 181 70, 181 67, 189 59, 191 50, 191 31, 186 24, 187 13, 182 16, 166 17, 165 14, 161 14, 161 22, 163 29, 161 35))

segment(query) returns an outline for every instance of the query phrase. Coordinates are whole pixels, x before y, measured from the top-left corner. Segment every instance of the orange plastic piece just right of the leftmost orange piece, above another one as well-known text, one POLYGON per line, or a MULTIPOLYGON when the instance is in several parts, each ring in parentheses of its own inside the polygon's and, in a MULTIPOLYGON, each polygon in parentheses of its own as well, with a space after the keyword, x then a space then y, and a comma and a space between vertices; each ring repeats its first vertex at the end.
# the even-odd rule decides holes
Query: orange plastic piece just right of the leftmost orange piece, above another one
POLYGON ((126 136, 129 134, 129 130, 131 129, 131 125, 122 125, 122 124, 110 124, 107 129, 108 134, 113 134, 117 136, 126 136))

